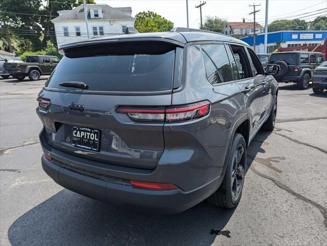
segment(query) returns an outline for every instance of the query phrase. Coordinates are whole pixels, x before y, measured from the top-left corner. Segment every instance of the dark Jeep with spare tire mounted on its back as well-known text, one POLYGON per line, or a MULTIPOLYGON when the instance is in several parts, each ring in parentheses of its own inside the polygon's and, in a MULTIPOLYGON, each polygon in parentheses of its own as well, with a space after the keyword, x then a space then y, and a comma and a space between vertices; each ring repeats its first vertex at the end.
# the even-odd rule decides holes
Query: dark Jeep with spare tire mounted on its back
POLYGON ((272 53, 269 63, 280 66, 281 72, 274 77, 278 82, 297 83, 298 89, 307 89, 316 67, 322 62, 319 52, 277 52, 272 53))

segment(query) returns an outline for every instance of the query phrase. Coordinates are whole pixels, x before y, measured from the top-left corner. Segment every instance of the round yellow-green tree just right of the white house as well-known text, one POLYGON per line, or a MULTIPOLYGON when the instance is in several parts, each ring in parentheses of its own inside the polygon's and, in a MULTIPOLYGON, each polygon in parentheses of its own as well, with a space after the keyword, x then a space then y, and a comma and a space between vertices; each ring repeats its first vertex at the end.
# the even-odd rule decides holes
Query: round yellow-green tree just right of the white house
POLYGON ((140 12, 135 17, 134 27, 139 32, 167 32, 174 27, 174 23, 170 20, 151 11, 140 12))

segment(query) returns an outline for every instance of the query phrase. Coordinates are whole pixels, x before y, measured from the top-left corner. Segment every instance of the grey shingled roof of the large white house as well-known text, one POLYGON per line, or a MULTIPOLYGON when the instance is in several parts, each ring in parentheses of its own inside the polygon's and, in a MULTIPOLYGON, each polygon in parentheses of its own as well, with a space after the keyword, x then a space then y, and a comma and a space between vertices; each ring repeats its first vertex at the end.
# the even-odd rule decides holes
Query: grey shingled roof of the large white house
MULTIPOLYGON (((125 14, 122 12, 120 9, 125 9, 125 8, 112 8, 109 5, 106 4, 88 4, 88 8, 94 8, 94 7, 99 7, 102 8, 102 19, 134 19, 133 17, 129 16, 128 14, 125 14)), ((130 7, 126 7, 128 9, 130 7)), ((131 8, 130 8, 131 12, 131 8)), ((90 12, 88 10, 87 13, 87 18, 90 18, 90 12)), ((80 5, 69 12, 58 16, 54 19, 51 20, 51 22, 56 21, 56 20, 75 20, 75 19, 84 19, 84 8, 83 5, 80 5)))

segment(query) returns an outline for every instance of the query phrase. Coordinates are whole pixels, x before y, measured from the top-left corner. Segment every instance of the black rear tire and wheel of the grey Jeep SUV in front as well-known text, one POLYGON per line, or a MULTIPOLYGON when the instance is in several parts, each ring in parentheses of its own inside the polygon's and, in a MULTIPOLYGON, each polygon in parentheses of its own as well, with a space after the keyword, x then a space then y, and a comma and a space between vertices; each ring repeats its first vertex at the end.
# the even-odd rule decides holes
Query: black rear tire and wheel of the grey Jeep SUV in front
POLYGON ((237 206, 242 196, 245 172, 245 139, 241 134, 235 133, 232 141, 232 147, 230 147, 228 155, 224 179, 218 190, 209 196, 207 200, 214 205, 227 209, 232 209, 237 206))

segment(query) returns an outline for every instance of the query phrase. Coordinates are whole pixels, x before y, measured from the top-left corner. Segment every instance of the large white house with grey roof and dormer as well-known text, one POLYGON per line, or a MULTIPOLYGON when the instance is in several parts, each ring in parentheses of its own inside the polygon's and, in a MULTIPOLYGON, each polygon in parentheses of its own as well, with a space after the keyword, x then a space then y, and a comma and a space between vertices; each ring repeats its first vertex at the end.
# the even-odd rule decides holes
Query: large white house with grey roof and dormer
MULTIPOLYGON (((83 5, 58 11, 58 14, 58 17, 51 19, 58 47, 88 38, 83 5)), ((131 7, 112 8, 106 4, 88 4, 90 37, 123 34, 126 27, 134 26, 135 18, 131 14, 131 7)))

